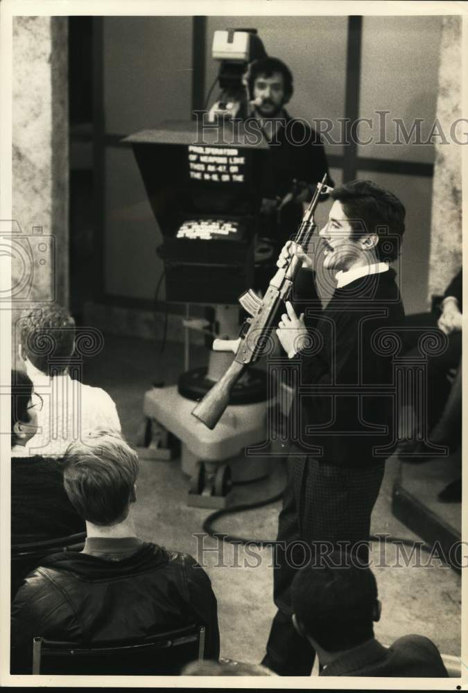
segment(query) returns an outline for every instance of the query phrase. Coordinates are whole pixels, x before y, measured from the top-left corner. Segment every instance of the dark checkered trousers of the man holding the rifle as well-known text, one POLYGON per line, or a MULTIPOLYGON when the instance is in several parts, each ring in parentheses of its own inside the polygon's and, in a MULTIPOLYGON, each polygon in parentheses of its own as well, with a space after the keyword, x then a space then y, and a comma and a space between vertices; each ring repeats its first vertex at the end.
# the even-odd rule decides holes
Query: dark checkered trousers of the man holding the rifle
MULTIPOLYGON (((383 461, 350 468, 325 464, 308 455, 289 457, 288 484, 279 514, 279 544, 275 549, 273 571, 278 608, 290 610, 289 588, 307 555, 301 543, 316 550, 318 542, 351 549, 356 543, 369 539, 370 516, 384 471, 383 461)), ((367 546, 360 547, 358 556, 360 561, 367 561, 367 546)))

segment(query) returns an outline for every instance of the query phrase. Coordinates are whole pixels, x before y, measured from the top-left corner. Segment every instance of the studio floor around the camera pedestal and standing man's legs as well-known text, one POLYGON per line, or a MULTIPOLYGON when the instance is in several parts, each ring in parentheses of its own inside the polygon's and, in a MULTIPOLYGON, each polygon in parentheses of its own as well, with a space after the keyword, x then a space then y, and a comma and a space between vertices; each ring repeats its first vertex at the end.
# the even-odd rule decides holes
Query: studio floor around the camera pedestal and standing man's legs
MULTIPOLYGON (((191 349, 190 367, 204 365, 207 351, 191 349)), ((153 383, 173 385, 183 369, 183 345, 168 343, 164 353, 150 340, 107 335, 105 348, 85 364, 85 383, 103 387, 116 402, 123 433, 135 441, 142 420, 144 392, 153 383)), ((392 484, 398 462, 390 458, 379 499, 372 514, 372 533, 417 540, 391 511, 392 484)), ((275 462, 267 480, 236 486, 234 502, 251 502, 274 495, 284 485, 284 464, 275 462)), ((141 461, 135 519, 137 532, 146 541, 192 554, 207 570, 218 599, 221 655, 259 662, 275 607, 272 602, 270 548, 249 552, 203 536, 208 509, 187 505, 188 477, 180 460, 141 461)), ((436 493, 436 491, 435 491, 436 493)), ((280 502, 220 518, 219 532, 250 538, 276 536, 280 502)), ((401 635, 419 633, 431 638, 442 653, 460 654, 460 575, 440 561, 409 566, 397 556, 394 545, 374 543, 372 568, 383 604, 376 637, 390 644, 401 635), (399 565, 397 565, 399 563, 399 565)))

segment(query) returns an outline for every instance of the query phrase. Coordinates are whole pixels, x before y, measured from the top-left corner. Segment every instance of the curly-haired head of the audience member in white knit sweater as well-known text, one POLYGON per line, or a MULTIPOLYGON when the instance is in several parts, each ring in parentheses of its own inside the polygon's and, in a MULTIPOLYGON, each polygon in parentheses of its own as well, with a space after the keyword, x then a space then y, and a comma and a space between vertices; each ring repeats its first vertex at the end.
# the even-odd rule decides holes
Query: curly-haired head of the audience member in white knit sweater
POLYGON ((65 308, 43 306, 21 313, 21 347, 33 366, 48 376, 70 365, 75 321, 65 308))

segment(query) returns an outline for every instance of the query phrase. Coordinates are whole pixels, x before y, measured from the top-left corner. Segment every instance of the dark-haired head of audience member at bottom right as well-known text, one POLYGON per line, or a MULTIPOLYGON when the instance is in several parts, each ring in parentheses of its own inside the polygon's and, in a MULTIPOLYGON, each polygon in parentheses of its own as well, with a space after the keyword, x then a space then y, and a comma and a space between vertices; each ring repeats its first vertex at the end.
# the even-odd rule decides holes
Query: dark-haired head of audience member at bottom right
POLYGON ((374 574, 370 568, 352 565, 352 561, 343 562, 339 552, 297 572, 292 599, 304 634, 327 652, 356 647, 374 636, 374 574))

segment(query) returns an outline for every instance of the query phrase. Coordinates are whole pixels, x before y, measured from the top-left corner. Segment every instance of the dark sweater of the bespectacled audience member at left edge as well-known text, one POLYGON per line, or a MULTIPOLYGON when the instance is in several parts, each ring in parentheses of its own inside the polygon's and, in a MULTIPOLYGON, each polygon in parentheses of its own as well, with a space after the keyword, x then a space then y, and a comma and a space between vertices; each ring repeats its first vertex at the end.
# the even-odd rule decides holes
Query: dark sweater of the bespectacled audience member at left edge
POLYGON ((47 541, 85 529, 65 493, 60 459, 12 457, 12 544, 47 541))

